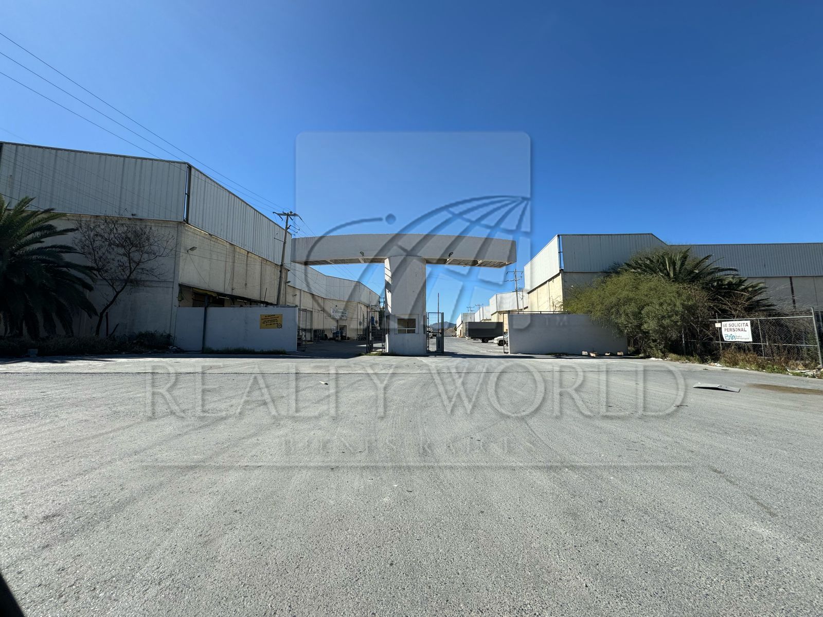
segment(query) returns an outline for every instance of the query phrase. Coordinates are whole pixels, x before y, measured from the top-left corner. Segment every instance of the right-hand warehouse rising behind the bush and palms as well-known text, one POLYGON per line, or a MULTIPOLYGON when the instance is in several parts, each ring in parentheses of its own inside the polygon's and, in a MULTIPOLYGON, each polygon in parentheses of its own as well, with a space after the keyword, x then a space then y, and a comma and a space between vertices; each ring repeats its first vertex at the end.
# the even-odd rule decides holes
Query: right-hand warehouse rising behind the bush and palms
POLYGON ((575 286, 655 248, 711 255, 719 267, 737 268, 740 276, 764 283, 781 310, 823 308, 823 243, 666 244, 654 234, 559 234, 523 268, 529 310, 562 310, 575 286))

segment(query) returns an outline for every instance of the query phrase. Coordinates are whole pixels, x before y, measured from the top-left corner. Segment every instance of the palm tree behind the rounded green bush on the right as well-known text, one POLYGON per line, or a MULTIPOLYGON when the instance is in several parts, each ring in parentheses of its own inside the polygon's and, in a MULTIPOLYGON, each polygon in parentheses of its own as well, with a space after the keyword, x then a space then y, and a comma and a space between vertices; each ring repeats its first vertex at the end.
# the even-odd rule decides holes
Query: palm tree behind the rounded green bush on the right
POLYGON ((763 283, 751 282, 737 274, 737 268, 724 268, 712 256, 693 257, 690 248, 659 249, 638 253, 616 267, 617 272, 663 276, 675 283, 695 285, 709 295, 716 312, 754 314, 774 310, 763 283))

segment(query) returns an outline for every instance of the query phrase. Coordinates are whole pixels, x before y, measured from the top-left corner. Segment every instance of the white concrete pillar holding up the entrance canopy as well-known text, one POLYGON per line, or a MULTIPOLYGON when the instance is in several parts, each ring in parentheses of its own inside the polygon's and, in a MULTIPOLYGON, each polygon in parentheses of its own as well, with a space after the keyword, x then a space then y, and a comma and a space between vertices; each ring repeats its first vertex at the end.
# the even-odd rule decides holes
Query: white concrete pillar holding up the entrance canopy
POLYGON ((386 350, 390 354, 425 355, 425 259, 388 257, 385 274, 386 350), (415 318, 416 332, 398 333, 399 318, 415 318))

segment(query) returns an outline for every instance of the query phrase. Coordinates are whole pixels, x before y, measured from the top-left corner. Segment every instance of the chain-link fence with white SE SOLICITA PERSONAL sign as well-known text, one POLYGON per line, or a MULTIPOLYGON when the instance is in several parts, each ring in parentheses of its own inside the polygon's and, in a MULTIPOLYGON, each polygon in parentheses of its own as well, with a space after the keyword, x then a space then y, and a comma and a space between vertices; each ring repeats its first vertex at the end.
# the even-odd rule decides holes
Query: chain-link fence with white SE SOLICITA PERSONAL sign
POLYGON ((780 317, 716 318, 700 332, 699 338, 683 341, 692 354, 723 355, 724 350, 733 350, 783 363, 823 364, 820 311, 780 317))

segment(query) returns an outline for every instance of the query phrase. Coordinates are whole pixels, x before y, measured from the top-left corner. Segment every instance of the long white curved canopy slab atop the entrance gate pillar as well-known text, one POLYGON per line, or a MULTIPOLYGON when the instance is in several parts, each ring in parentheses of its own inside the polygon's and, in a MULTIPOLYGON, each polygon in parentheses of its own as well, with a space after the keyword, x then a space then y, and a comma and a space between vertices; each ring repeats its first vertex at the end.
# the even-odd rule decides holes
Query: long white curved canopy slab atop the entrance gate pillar
POLYGON ((405 255, 450 266, 504 267, 517 261, 517 243, 438 234, 346 234, 291 240, 291 261, 307 266, 383 263, 388 257, 405 255))

